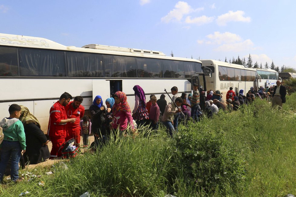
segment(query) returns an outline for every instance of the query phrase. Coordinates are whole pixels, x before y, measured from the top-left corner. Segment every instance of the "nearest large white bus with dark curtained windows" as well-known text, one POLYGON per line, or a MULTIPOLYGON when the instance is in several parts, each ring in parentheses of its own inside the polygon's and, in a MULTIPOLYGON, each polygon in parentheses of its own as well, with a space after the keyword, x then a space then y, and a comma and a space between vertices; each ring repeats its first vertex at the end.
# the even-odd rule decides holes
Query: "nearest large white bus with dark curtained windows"
POLYGON ((205 88, 202 63, 194 59, 96 44, 67 47, 39 37, 0 34, 0 118, 8 116, 11 104, 24 105, 43 131, 50 107, 64 92, 73 98, 83 96, 82 105, 88 110, 96 95, 105 102, 123 91, 133 109, 134 85, 144 89, 148 101, 149 95, 160 98, 165 88, 170 92, 173 86, 180 93, 191 92, 192 80, 205 88))

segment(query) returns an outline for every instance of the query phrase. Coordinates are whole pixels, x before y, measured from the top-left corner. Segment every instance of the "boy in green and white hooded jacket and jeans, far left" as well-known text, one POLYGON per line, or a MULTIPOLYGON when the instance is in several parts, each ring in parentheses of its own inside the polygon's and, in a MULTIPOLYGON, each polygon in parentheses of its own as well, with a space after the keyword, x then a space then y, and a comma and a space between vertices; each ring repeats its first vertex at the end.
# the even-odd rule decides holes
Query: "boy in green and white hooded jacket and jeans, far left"
POLYGON ((1 143, 0 182, 2 182, 5 168, 11 157, 10 178, 18 182, 18 162, 22 153, 26 152, 26 137, 23 123, 18 119, 21 116, 21 107, 12 104, 8 108, 9 117, 3 118, 0 125, 3 128, 4 139, 1 143))

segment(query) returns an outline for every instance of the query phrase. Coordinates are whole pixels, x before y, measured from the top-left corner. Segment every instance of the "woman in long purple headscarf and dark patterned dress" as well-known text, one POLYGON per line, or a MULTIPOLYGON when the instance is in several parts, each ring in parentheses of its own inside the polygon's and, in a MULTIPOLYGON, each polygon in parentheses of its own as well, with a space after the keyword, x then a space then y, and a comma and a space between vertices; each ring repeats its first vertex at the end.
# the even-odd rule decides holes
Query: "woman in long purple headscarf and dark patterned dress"
POLYGON ((148 123, 148 111, 146 109, 146 96, 144 90, 136 85, 133 86, 135 91, 135 108, 133 109, 133 119, 137 125, 145 125, 148 123))

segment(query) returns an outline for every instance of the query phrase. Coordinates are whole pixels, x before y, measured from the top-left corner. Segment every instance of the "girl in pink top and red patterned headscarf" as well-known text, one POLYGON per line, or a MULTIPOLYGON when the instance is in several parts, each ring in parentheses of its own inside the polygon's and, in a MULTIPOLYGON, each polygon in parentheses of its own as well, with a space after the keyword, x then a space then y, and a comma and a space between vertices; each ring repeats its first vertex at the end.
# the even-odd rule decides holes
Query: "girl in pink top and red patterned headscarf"
POLYGON ((112 107, 113 117, 111 127, 114 130, 118 128, 120 131, 124 131, 127 129, 129 123, 134 132, 133 118, 130 111, 130 105, 127 103, 127 96, 124 92, 117 91, 114 94, 114 100, 115 104, 112 107))

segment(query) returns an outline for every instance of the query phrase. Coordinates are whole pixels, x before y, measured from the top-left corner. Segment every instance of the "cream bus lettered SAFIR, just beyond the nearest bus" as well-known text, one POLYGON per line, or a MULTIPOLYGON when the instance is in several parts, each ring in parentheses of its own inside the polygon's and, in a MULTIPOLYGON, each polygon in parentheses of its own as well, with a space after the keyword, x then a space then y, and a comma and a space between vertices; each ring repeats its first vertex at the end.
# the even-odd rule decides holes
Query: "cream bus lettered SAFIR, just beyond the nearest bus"
POLYGON ((256 69, 216 60, 200 61, 203 66, 212 70, 212 78, 206 76, 207 89, 220 90, 224 102, 229 87, 233 88, 236 95, 241 89, 244 90, 244 95, 246 95, 251 87, 258 89, 259 76, 256 69))

